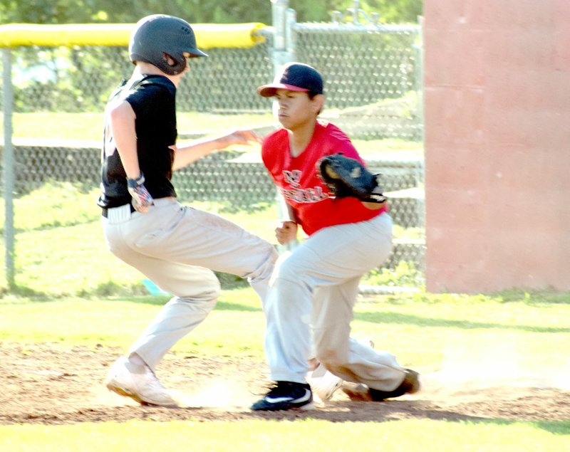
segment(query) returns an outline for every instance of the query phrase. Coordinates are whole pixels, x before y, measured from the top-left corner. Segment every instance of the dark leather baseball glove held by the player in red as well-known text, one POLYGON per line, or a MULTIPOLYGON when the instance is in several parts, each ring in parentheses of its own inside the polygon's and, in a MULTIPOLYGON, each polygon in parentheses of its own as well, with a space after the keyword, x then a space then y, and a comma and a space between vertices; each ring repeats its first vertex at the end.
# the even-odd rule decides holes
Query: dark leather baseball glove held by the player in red
POLYGON ((356 159, 341 153, 328 155, 317 162, 317 172, 328 191, 337 198, 354 196, 375 203, 386 200, 378 181, 380 174, 372 174, 356 159))

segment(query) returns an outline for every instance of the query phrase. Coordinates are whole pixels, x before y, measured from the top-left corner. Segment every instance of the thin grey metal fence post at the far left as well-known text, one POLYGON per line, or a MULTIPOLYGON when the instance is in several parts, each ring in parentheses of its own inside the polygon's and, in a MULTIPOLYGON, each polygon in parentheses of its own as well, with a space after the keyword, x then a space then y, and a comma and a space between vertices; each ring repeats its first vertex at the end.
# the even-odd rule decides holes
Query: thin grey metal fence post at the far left
POLYGON ((14 145, 12 144, 12 52, 2 49, 2 83, 4 86, 4 156, 2 160, 2 181, 4 182, 4 246, 6 246, 4 268, 6 283, 14 288, 14 145))

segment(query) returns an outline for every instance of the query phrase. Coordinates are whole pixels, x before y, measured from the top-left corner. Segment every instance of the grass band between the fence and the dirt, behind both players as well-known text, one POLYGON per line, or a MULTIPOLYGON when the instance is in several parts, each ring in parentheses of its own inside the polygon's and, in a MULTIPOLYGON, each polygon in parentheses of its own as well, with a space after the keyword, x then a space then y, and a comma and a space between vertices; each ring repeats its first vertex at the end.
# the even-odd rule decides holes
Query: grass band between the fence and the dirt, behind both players
MULTIPOLYGON (((527 299, 519 293, 509 301, 500 294, 367 296, 356 305, 353 332, 373 338, 384 349, 398 350, 403 364, 424 372, 457 359, 458 350, 469 344, 473 359, 509 359, 515 364, 513 360, 524 356, 548 369, 560 365, 552 354, 564 354, 570 344, 570 300, 564 293, 555 301, 553 295, 550 301, 544 296, 537 293, 527 299), (485 357, 489 348, 495 352, 485 357)), ((0 299, 0 342, 126 347, 167 300, 167 295, 44 300, 5 295, 0 299)), ((207 327, 200 327, 199 335, 189 335, 176 349, 261 356, 263 321, 251 288, 223 290, 207 327)))

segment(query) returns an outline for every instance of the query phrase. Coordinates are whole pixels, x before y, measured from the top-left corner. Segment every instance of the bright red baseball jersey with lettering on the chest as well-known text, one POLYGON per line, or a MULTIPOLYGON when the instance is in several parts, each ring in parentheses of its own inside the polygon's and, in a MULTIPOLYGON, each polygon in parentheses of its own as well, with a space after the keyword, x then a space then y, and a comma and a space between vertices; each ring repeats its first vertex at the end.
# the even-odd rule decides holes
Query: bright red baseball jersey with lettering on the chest
POLYGON ((261 144, 261 158, 281 194, 294 210, 307 235, 336 224, 356 223, 382 214, 386 207, 367 209, 353 197, 335 198, 318 177, 316 164, 326 155, 342 152, 362 162, 351 140, 330 122, 318 121, 311 142, 297 157, 291 156, 289 132, 279 129, 261 144))

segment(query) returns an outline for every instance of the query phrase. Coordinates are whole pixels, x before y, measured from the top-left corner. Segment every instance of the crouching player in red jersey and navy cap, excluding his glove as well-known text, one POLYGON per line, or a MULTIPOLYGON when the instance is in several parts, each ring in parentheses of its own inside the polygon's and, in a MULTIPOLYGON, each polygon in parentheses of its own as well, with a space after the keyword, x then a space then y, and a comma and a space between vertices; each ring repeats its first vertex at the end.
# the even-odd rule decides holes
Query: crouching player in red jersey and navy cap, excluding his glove
POLYGON ((289 63, 258 93, 276 98, 283 126, 266 136, 261 147, 263 162, 289 207, 277 239, 281 244, 293 240, 298 225, 309 237, 280 256, 271 278, 265 348, 276 384, 252 409, 311 406, 306 382, 311 348, 328 371, 366 385, 372 400, 418 391, 417 372, 400 366, 393 354, 350 337, 358 283, 388 258, 393 224, 385 203, 336 198, 318 177, 318 162, 327 155, 341 152, 362 162, 342 130, 317 119, 324 103, 320 73, 289 63))

